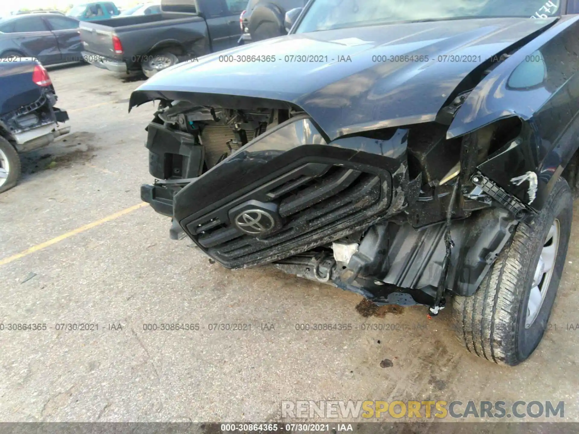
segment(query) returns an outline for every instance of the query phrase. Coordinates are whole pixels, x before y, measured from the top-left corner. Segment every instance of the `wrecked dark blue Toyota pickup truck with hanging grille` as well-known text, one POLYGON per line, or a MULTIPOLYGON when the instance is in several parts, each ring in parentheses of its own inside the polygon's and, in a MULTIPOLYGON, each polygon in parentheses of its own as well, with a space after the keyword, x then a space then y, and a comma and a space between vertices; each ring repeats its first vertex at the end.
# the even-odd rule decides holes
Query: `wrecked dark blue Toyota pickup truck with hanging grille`
POLYGON ((547 328, 579 185, 574 7, 310 0, 287 36, 134 91, 160 101, 141 197, 225 267, 452 308, 469 351, 516 365, 547 328))

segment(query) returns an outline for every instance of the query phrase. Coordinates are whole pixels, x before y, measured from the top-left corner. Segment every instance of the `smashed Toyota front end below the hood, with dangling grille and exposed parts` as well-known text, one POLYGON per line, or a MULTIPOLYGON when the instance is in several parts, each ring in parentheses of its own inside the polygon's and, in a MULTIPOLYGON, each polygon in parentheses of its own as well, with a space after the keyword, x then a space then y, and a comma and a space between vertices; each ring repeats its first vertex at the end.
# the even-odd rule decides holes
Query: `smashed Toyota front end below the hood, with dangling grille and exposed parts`
MULTIPOLYGON (((517 129, 518 128, 518 129, 517 129)), ((378 304, 472 295, 527 208, 480 172, 518 120, 446 139, 437 123, 329 141, 306 113, 162 105, 141 197, 230 269, 273 264, 378 304), (524 212, 521 212, 523 210, 524 212)))

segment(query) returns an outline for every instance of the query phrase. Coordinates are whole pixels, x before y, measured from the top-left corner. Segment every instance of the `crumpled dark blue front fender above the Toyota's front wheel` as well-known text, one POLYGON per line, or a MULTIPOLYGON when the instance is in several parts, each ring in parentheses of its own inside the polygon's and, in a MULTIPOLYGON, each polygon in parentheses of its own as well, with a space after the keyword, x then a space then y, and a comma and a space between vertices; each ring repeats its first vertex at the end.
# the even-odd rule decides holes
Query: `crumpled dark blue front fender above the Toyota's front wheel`
POLYGON ((579 147, 577 34, 579 16, 563 16, 522 46, 471 91, 446 134, 460 137, 519 117, 519 139, 505 144, 479 170, 536 211, 579 147))

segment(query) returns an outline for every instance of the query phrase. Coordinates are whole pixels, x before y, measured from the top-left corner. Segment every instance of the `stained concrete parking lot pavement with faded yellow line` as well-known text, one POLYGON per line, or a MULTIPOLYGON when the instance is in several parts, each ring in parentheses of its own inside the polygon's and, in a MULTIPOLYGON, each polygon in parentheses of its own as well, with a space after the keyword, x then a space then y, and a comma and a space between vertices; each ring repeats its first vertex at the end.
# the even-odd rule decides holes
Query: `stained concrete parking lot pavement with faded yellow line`
POLYGON ((496 366, 461 347, 449 309, 434 319, 424 307, 372 310, 353 293, 229 271, 169 240, 169 220, 139 196, 153 113, 127 113, 140 82, 90 65, 50 75, 71 134, 27 155, 23 179, 0 196, 0 323, 47 328, 0 331, 0 421, 274 421, 282 400, 324 399, 564 400, 563 420, 579 421, 576 242, 540 347, 523 365, 496 366), (200 327, 145 330, 162 323, 200 327), (230 323, 251 328, 210 330, 230 323), (314 323, 353 326, 296 330, 314 323))

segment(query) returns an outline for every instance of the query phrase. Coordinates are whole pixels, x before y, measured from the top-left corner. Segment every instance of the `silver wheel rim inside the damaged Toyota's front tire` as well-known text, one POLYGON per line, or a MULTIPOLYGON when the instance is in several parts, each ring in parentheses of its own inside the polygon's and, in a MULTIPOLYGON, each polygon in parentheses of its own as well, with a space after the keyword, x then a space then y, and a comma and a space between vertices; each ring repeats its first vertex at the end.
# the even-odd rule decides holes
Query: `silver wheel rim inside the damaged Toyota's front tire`
POLYGON ((543 301, 551 283, 553 270, 555 269, 555 260, 557 259, 557 250, 559 248, 559 234, 560 224, 559 220, 555 219, 549 229, 547 238, 541 250, 541 256, 535 274, 533 276, 533 283, 531 284, 531 292, 529 294, 529 301, 527 302, 527 316, 525 319, 525 328, 530 328, 533 325, 537 315, 543 306, 543 301))

